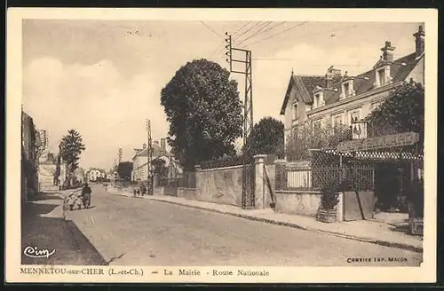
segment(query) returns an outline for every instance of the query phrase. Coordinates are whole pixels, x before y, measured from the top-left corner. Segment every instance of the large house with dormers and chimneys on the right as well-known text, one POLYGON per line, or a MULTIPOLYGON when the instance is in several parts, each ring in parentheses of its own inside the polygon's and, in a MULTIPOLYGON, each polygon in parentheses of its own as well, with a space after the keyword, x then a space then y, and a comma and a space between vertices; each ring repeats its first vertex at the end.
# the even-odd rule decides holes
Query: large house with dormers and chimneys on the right
POLYGON ((385 42, 381 59, 360 75, 342 74, 329 67, 326 75, 293 75, 281 106, 285 144, 299 124, 322 128, 327 124, 352 125, 377 108, 401 83, 424 84, 424 27, 414 34, 416 51, 393 58, 395 47, 385 42))

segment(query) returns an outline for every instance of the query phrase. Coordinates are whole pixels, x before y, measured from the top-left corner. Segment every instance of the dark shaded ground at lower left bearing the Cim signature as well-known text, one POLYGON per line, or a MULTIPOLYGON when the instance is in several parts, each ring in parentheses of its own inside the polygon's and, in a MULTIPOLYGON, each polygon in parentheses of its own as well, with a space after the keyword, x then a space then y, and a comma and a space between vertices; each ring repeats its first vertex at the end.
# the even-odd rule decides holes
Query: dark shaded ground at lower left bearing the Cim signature
POLYGON ((52 195, 38 198, 21 207, 22 264, 107 264, 77 226, 63 218, 61 199, 56 201, 52 195), (29 257, 24 254, 27 247, 55 252, 49 257, 29 257))

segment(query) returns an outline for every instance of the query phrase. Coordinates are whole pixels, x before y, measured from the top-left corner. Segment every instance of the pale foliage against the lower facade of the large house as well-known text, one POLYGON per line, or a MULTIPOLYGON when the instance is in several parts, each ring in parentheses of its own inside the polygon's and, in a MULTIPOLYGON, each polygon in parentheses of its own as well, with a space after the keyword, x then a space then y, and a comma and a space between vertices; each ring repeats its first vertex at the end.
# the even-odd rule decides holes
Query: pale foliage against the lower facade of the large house
POLYGON ((310 149, 335 148, 345 140, 352 139, 352 130, 344 124, 325 124, 313 130, 310 122, 298 125, 291 130, 285 152, 289 161, 307 161, 310 149))

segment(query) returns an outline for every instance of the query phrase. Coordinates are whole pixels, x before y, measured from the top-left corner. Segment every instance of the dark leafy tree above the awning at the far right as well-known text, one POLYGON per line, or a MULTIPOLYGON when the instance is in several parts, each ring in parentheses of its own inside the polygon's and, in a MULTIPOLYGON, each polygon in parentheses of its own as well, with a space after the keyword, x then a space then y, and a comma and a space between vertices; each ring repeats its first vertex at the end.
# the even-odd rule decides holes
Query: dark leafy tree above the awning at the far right
POLYGON ((393 90, 381 106, 367 117, 369 133, 382 136, 414 131, 419 146, 424 145, 424 88, 420 83, 403 83, 393 90))

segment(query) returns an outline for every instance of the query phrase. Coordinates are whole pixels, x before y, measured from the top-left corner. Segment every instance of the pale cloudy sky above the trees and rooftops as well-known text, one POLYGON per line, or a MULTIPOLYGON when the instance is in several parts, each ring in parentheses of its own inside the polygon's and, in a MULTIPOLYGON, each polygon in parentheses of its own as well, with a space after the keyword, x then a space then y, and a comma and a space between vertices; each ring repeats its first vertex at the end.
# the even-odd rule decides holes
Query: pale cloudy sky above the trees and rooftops
MULTIPOLYGON (((280 119, 291 71, 348 75, 369 70, 391 41, 395 59, 415 51, 418 23, 237 22, 170 20, 23 20, 23 109, 47 130, 58 152, 67 130, 78 130, 85 169, 110 169, 123 148, 168 134, 160 91, 179 67, 210 59, 228 68, 225 33, 252 51, 253 120, 280 119)), ((241 57, 241 56, 235 56, 241 57)), ((237 67, 235 67, 237 68, 237 67)), ((232 74, 243 99, 244 77, 232 74)))

